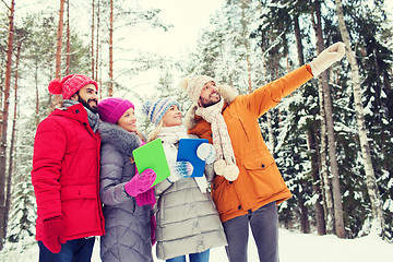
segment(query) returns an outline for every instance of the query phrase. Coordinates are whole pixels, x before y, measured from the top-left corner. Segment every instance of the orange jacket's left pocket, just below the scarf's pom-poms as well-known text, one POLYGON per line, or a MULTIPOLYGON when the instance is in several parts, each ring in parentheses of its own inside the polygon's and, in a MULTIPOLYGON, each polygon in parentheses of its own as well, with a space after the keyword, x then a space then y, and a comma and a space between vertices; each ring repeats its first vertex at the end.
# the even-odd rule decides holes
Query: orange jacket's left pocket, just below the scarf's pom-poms
POLYGON ((216 176, 214 178, 212 198, 221 215, 235 210, 236 195, 235 188, 224 177, 216 176))

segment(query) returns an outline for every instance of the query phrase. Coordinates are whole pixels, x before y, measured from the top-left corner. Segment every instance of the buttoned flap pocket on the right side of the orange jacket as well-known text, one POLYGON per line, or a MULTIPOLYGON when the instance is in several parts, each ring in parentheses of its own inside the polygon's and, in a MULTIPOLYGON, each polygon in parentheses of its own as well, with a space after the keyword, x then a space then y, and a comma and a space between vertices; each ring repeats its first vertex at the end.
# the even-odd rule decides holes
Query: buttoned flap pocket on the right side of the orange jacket
POLYGON ((271 154, 243 163, 250 177, 250 186, 261 198, 273 195, 286 188, 271 154))

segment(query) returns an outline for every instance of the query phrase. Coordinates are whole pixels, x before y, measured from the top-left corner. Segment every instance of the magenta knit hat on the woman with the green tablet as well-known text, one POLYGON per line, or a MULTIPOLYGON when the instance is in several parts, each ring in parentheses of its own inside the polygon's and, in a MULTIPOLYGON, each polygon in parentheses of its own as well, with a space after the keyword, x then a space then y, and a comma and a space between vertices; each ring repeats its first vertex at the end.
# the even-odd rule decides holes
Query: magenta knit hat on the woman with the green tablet
POLYGON ((131 102, 122 98, 106 98, 97 105, 99 119, 109 123, 117 123, 131 107, 135 109, 131 102))

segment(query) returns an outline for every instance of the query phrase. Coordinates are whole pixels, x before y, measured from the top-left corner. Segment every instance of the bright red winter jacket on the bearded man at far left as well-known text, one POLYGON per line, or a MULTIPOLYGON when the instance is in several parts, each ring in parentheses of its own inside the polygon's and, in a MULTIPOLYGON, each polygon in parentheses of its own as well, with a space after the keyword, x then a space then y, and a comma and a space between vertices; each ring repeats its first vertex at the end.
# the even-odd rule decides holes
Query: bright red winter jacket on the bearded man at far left
POLYGON ((36 239, 43 221, 62 216, 67 240, 103 236, 99 200, 100 136, 82 104, 57 109, 38 126, 32 182, 37 201, 36 239))

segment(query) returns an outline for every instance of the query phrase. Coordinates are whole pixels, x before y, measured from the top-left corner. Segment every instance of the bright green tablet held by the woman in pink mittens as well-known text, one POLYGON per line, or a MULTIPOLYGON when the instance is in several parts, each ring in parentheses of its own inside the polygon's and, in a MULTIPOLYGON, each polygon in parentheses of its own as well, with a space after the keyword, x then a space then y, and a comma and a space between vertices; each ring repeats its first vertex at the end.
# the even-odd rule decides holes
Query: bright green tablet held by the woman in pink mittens
POLYGON ((160 139, 153 140, 132 152, 139 174, 147 168, 156 172, 155 186, 170 176, 168 162, 160 139))

